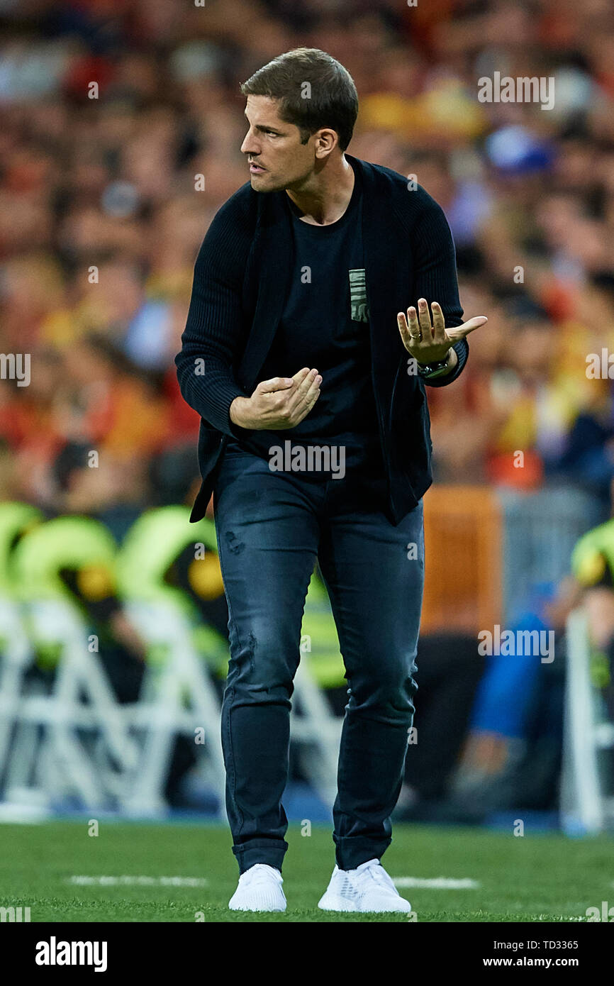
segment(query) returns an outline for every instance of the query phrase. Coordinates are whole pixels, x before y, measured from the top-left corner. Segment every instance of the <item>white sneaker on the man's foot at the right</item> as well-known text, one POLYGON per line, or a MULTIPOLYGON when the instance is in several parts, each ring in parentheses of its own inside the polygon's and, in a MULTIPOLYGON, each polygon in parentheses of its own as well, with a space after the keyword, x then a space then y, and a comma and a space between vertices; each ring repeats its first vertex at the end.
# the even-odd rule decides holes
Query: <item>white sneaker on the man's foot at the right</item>
POLYGON ((317 906, 322 911, 411 911, 409 900, 400 896, 379 860, 369 860, 356 870, 335 867, 317 906))

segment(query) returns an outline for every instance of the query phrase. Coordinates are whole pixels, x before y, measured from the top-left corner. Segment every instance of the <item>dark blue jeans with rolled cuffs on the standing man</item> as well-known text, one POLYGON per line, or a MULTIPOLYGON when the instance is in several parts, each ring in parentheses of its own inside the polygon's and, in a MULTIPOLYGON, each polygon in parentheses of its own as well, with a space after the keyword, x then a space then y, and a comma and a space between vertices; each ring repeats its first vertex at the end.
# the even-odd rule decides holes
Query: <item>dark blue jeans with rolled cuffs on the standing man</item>
POLYGON ((272 472, 227 450, 214 490, 229 604, 222 708, 226 805, 239 871, 282 868, 290 709, 317 558, 348 681, 333 809, 337 865, 379 858, 391 841, 417 689, 424 581, 422 501, 394 527, 383 477, 272 472))

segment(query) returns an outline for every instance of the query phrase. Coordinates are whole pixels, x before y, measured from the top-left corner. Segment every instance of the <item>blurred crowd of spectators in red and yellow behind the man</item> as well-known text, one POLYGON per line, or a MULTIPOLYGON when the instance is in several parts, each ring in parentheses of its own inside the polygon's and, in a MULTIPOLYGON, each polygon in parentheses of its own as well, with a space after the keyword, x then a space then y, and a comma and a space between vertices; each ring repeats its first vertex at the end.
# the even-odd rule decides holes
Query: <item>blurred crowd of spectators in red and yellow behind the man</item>
POLYGON ((0 27, 0 352, 32 358, 0 380, 0 499, 120 534, 195 493, 193 263, 248 179, 239 83, 307 45, 356 82, 348 152, 440 202, 465 318, 489 317, 430 391, 436 478, 609 501, 613 382, 586 360, 614 353, 610 0, 2 0, 0 27), (495 72, 554 80, 554 106, 481 103, 495 72))

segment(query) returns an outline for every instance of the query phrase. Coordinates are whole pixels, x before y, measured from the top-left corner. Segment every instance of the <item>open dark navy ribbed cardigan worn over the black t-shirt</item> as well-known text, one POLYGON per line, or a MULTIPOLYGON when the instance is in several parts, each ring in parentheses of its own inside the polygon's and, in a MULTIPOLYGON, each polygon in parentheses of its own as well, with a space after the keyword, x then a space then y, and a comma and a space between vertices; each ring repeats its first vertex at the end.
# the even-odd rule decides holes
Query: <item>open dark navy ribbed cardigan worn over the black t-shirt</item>
MULTIPOLYGON (((408 373, 397 312, 419 298, 439 302, 446 327, 462 323, 456 258, 443 209, 418 185, 389 168, 346 154, 363 177, 363 243, 370 315, 373 385, 387 472, 387 514, 398 524, 433 482, 425 383, 445 387, 466 363, 466 340, 454 344, 458 365, 431 384, 408 373)), ((201 416, 202 485, 190 520, 205 514, 224 447, 238 432, 229 409, 249 396, 283 313, 292 257, 285 191, 255 192, 249 182, 219 209, 194 265, 181 350, 175 357, 183 397, 201 416)))

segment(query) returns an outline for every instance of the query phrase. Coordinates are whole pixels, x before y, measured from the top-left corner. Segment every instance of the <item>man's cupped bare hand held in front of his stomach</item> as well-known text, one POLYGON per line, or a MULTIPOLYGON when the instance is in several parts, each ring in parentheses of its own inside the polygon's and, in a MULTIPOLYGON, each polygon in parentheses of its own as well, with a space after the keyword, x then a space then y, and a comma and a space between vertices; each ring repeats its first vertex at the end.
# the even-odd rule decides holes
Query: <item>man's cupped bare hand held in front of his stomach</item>
POLYGON ((250 397, 235 397, 231 421, 252 431, 282 431, 303 421, 319 397, 322 378, 305 367, 294 377, 262 381, 250 397))

